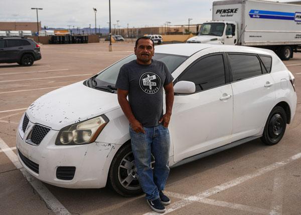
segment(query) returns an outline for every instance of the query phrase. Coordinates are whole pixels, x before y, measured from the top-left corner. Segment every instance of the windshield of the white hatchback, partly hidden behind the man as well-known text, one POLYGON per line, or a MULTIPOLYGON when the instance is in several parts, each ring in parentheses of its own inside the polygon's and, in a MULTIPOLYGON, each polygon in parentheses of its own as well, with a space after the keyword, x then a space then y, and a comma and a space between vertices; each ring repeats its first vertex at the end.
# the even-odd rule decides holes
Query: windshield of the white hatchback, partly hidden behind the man
MULTIPOLYGON (((170 55, 170 54, 161 54, 155 53, 153 59, 157 61, 162 61, 168 67, 168 70, 173 73, 188 57, 181 55, 170 55)), ((113 64, 109 68, 103 70, 99 73, 95 79, 101 85, 113 85, 115 86, 117 76, 122 65, 129 63, 130 61, 136 60, 136 56, 130 55, 117 63, 113 64)))

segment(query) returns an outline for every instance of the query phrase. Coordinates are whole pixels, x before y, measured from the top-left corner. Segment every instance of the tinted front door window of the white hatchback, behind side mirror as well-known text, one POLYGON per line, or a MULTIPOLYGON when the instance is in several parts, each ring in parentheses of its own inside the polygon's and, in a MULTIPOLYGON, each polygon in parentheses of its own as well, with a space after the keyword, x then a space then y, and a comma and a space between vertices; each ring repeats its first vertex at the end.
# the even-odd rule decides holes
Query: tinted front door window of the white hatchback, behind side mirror
POLYGON ((196 92, 225 84, 223 56, 214 55, 201 59, 185 72, 180 81, 194 82, 196 92))

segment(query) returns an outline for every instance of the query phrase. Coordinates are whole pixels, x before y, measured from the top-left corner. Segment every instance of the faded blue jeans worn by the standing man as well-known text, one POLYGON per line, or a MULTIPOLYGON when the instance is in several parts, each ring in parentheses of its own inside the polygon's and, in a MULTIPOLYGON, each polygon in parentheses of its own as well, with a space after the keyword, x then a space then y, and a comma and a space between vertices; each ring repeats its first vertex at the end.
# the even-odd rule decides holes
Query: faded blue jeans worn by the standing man
POLYGON ((159 124, 155 127, 143 127, 145 134, 136 133, 129 127, 131 148, 135 158, 135 166, 139 183, 146 198, 159 198, 159 191, 164 186, 169 175, 170 135, 168 128, 159 124), (155 169, 150 167, 152 155, 155 157, 155 169))

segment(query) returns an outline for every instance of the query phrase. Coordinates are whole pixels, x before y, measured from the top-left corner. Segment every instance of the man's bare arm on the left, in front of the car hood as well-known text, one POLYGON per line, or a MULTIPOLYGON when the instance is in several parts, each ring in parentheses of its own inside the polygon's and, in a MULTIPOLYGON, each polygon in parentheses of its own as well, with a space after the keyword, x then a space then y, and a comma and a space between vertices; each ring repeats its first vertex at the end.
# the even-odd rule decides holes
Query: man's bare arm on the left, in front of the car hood
POLYGON ((133 115, 133 113, 131 111, 129 103, 126 99, 127 94, 128 94, 128 90, 121 90, 118 88, 118 90, 117 90, 118 103, 119 103, 124 115, 128 119, 129 124, 132 127, 132 129, 137 133, 142 132, 145 134, 143 126, 141 125, 141 123, 138 120, 136 120, 135 116, 133 115))

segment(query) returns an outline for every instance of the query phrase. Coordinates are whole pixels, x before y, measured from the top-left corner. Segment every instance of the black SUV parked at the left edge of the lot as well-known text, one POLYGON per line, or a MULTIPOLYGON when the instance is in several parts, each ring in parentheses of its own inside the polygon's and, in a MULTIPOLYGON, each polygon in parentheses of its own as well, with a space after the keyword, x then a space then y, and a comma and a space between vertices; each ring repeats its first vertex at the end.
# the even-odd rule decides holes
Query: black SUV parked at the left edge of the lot
POLYGON ((28 38, 0 38, 0 63, 31 66, 42 58, 40 45, 28 38))

